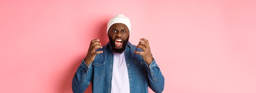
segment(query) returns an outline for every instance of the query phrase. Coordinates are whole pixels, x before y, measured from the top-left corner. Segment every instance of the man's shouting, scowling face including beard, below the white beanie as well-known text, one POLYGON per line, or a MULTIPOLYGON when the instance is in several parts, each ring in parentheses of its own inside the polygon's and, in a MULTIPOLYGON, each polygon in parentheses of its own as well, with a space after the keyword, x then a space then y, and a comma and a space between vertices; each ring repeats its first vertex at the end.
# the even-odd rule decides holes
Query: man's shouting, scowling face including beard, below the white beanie
POLYGON ((123 53, 129 40, 129 29, 125 24, 113 24, 108 31, 108 38, 112 51, 115 53, 123 53))

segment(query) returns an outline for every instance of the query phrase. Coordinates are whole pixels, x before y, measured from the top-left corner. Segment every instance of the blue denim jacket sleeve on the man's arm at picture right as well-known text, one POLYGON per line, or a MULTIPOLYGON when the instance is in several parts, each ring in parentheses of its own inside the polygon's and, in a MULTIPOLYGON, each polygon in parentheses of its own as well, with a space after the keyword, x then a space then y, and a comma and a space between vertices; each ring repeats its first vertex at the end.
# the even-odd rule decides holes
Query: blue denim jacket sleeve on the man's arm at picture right
POLYGON ((164 76, 162 75, 154 58, 153 62, 151 62, 149 66, 147 64, 147 68, 150 89, 155 93, 161 93, 164 90, 164 76))

